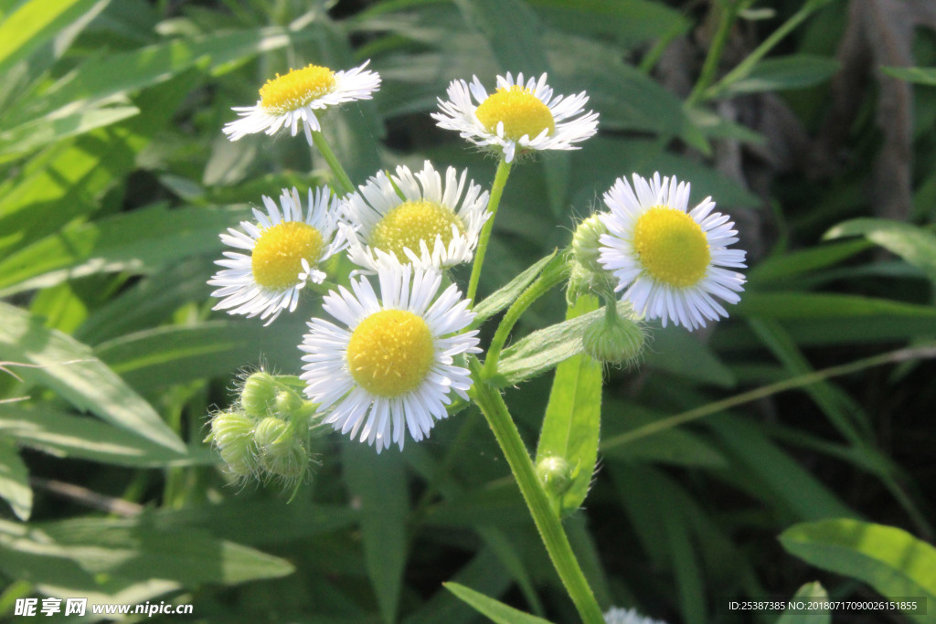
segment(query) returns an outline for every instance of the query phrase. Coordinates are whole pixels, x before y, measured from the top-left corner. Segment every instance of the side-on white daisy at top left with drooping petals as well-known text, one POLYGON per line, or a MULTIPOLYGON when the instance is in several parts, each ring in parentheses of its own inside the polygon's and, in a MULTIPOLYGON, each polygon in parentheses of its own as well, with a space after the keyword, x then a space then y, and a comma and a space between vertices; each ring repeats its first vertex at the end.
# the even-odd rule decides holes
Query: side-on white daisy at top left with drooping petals
POLYGON ((312 145, 312 133, 321 130, 316 110, 369 100, 380 88, 380 75, 365 69, 369 63, 342 71, 306 65, 291 69, 284 76, 277 74, 260 87, 260 99, 255 106, 234 107, 241 119, 227 123, 224 132, 236 141, 257 132, 273 135, 287 127, 295 137, 301 122, 305 138, 312 145))

